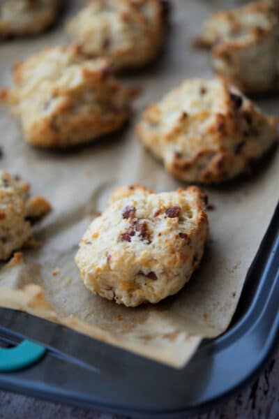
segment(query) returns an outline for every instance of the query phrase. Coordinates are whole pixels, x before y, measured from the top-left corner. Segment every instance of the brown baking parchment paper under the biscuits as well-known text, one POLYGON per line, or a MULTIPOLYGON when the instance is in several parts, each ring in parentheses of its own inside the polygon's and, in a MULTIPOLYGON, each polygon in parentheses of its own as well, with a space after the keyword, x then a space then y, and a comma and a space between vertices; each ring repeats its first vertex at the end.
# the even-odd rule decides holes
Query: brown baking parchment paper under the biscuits
MULTIPOLYGON (((44 36, 0 44, 0 85, 10 84, 10 66, 46 45, 66 43, 63 20, 84 1, 68 1, 66 15, 44 36), (68 14, 68 15, 67 15, 68 14)), ((133 128, 142 110, 183 79, 210 77, 209 56, 193 50, 190 39, 204 17, 222 1, 171 1, 172 18, 165 53, 158 62, 122 77, 142 87, 135 116, 116 135, 67 152, 35 149, 22 141, 20 128, 0 110, 1 168, 31 183, 52 213, 35 228, 42 243, 24 250, 24 260, 2 265, 0 305, 48 318, 135 353, 182 367, 202 337, 216 337, 229 325, 252 258, 278 200, 279 155, 274 152, 250 179, 205 188, 215 209, 209 212, 210 237, 202 265, 183 290, 156 305, 126 308, 92 295, 79 279, 74 256, 80 238, 116 185, 139 182, 155 191, 186 186, 172 178, 137 141, 133 128)), ((228 1, 226 6, 239 4, 228 1)), ((279 98, 257 101, 276 113, 279 98)))

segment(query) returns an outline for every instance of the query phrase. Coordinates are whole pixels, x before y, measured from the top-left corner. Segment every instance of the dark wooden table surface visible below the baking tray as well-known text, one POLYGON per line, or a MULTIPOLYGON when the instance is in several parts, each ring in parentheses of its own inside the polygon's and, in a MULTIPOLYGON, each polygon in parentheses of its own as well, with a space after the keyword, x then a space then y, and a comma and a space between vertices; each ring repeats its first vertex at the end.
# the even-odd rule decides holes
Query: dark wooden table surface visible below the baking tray
MULTIPOLYGON (((249 354, 247 354, 249 356, 249 354)), ((191 419, 278 419, 279 418, 279 348, 262 375, 232 399, 191 419)), ((124 416, 96 413, 31 397, 0 392, 0 419, 125 419, 124 416)), ((189 416, 185 416, 185 419, 189 416)))

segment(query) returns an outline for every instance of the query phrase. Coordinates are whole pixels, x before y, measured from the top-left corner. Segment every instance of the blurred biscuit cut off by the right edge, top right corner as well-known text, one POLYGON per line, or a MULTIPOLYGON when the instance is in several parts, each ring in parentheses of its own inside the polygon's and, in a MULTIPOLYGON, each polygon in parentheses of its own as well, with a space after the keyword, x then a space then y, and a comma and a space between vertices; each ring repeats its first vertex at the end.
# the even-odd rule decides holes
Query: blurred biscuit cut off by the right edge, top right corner
POLYGON ((268 1, 213 13, 197 46, 211 48, 212 66, 242 91, 278 89, 278 6, 268 1))

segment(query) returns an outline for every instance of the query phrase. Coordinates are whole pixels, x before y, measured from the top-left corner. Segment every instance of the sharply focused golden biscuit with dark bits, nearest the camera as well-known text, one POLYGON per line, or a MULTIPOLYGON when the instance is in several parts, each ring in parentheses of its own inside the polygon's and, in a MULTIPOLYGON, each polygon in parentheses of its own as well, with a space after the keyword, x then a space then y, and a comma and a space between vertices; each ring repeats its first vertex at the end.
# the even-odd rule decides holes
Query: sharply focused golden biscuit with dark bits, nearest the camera
POLYGON ((204 253, 205 200, 196 186, 158 194, 140 185, 116 189, 75 258, 86 288, 127 307, 177 293, 204 253))

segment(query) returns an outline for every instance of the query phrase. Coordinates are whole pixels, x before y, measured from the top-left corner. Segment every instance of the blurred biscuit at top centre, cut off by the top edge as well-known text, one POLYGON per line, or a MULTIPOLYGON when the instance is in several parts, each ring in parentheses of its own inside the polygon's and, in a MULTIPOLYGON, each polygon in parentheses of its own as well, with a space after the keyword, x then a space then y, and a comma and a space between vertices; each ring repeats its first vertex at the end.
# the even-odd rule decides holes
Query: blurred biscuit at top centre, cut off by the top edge
POLYGON ((163 0, 91 0, 66 31, 89 57, 107 57, 114 68, 142 66, 160 52, 166 10, 163 0))

